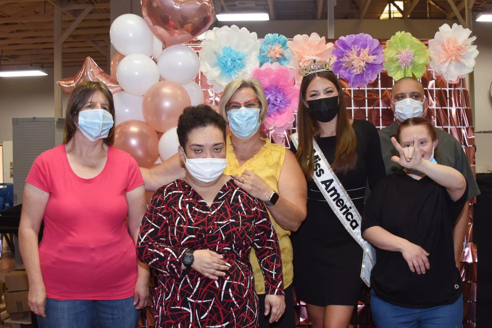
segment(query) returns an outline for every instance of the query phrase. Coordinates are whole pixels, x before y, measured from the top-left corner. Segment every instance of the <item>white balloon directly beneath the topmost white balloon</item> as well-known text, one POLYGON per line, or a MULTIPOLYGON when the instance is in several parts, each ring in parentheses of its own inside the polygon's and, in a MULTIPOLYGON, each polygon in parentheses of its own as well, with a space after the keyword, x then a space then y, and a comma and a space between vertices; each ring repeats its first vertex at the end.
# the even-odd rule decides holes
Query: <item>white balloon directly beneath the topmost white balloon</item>
POLYGON ((159 69, 150 57, 134 53, 121 59, 116 77, 123 90, 134 96, 143 96, 159 81, 159 69))

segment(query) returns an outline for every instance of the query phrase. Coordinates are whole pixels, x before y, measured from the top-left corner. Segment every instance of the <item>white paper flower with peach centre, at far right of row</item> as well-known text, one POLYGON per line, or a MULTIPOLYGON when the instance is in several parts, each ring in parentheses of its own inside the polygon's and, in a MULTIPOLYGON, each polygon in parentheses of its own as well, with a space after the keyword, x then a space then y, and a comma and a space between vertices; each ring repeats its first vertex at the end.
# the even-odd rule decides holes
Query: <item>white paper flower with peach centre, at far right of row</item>
POLYGON ((444 24, 429 40, 430 68, 442 74, 444 79, 455 82, 473 71, 477 46, 471 45, 476 36, 468 37, 471 31, 458 24, 444 24))

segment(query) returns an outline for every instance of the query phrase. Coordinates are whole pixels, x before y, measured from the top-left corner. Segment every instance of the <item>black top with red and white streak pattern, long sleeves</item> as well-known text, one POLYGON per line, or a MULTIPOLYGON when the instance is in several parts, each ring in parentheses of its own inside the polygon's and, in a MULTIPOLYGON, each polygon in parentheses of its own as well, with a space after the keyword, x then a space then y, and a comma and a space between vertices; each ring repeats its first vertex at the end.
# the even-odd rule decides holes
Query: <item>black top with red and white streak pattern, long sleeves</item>
POLYGON ((263 202, 232 180, 210 207, 182 179, 161 187, 150 202, 137 243, 139 259, 159 272, 156 327, 257 327, 252 247, 267 294, 283 295, 277 234, 263 202), (230 264, 226 276, 212 280, 193 269, 181 270, 188 249, 223 255, 230 264))

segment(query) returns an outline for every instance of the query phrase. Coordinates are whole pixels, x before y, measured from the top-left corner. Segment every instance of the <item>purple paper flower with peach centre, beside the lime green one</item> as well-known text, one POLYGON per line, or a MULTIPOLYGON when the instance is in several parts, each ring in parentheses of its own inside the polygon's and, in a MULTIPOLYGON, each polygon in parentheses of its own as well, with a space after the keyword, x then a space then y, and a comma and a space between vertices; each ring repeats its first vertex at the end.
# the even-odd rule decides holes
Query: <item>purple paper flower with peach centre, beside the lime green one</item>
POLYGON ((341 36, 335 42, 337 60, 333 72, 347 80, 352 88, 363 88, 376 80, 383 70, 383 47, 369 34, 341 36))

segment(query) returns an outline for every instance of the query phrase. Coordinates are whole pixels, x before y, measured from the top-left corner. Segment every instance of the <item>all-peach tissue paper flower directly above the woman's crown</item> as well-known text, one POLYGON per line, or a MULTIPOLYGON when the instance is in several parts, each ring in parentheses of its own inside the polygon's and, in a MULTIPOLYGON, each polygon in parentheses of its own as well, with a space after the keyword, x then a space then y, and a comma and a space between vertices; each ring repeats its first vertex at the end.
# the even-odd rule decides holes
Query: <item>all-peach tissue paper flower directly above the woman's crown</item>
POLYGON ((333 57, 333 43, 326 43, 323 37, 320 37, 318 33, 297 34, 292 41, 288 41, 287 45, 292 50, 294 56, 291 60, 291 66, 297 69, 296 80, 299 83, 302 80, 299 66, 306 66, 312 63, 313 59, 329 61, 334 63, 333 57))

